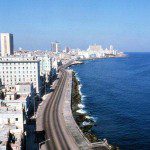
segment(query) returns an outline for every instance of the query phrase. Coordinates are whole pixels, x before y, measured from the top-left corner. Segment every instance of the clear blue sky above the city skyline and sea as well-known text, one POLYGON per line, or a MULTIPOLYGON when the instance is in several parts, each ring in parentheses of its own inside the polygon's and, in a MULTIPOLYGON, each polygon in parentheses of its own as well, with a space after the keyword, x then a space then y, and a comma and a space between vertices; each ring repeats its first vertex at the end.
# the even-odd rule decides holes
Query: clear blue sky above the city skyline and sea
POLYGON ((14 35, 15 49, 49 50, 90 44, 150 52, 150 0, 0 0, 0 33, 14 35))

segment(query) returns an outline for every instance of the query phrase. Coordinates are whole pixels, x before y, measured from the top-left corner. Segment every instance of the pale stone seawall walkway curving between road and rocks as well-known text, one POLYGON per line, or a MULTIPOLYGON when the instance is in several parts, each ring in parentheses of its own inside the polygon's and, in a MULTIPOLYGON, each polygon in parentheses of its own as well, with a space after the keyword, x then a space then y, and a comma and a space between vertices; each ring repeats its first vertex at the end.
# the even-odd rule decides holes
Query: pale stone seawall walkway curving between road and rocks
POLYGON ((91 143, 83 134, 79 126, 74 120, 72 110, 71 110, 71 94, 72 94, 72 71, 68 70, 68 78, 64 90, 64 103, 63 103, 63 116, 66 123, 66 128, 71 134, 81 150, 89 149, 100 149, 109 150, 112 149, 108 145, 107 141, 101 141, 96 143, 91 143))

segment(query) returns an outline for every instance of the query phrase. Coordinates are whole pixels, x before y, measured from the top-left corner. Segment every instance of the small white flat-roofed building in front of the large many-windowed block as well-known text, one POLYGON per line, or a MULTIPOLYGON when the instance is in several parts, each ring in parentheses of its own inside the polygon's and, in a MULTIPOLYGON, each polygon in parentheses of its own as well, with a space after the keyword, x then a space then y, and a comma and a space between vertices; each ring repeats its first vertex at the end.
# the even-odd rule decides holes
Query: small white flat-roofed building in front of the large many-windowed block
POLYGON ((13 89, 8 88, 3 90, 3 92, 5 98, 0 100, 0 103, 16 109, 24 109, 27 114, 33 110, 35 90, 32 84, 17 84, 13 89))

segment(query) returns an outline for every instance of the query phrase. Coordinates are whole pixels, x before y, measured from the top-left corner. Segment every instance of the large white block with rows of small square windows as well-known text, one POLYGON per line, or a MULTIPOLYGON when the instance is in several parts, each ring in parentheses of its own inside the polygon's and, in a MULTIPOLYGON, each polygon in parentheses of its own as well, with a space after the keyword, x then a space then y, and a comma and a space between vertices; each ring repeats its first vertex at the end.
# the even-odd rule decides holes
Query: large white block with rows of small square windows
POLYGON ((15 86, 19 83, 33 83, 36 93, 40 93, 40 61, 38 60, 0 60, 0 79, 2 85, 15 86))

